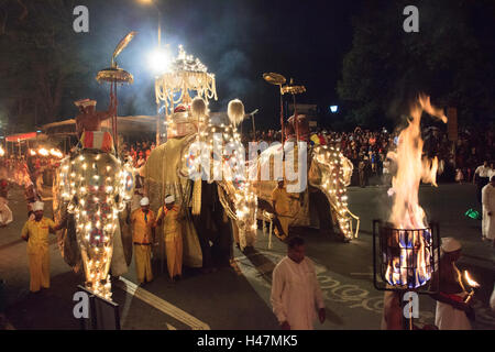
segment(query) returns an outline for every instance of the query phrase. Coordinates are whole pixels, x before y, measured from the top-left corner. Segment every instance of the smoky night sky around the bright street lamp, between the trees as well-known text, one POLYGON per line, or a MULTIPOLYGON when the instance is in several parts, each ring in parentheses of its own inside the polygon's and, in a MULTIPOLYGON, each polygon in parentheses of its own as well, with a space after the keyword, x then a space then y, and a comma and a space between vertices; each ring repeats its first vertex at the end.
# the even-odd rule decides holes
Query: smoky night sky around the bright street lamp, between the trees
MULTIPOLYGON (((260 109, 256 124, 261 128, 277 128, 279 109, 277 87, 265 82, 263 73, 279 73, 305 85, 307 92, 298 96, 298 102, 318 103, 322 109, 338 102, 337 80, 352 45, 351 16, 359 13, 361 2, 155 0, 162 12, 162 44, 169 44, 174 54, 183 44, 216 74, 219 100, 210 109, 224 111, 230 99, 239 98, 246 111, 260 109)), ((88 63, 94 75, 110 65, 113 48, 127 33, 139 32, 118 57, 119 66, 135 77, 134 85, 119 90, 119 113, 154 114, 147 54, 157 42, 156 9, 138 0, 78 4, 89 9, 89 33, 78 35, 80 50, 95 53, 88 63)), ((105 108, 107 88, 94 76, 81 84, 89 87, 88 97, 105 108)), ((64 103, 64 111, 70 103, 64 103)))

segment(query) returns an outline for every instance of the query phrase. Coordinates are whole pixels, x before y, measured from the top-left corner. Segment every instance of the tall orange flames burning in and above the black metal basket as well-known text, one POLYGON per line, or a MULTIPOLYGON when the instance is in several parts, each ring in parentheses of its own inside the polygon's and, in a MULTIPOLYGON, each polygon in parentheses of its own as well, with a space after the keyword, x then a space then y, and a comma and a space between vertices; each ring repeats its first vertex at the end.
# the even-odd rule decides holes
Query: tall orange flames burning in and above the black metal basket
POLYGON ((397 174, 392 180, 395 199, 389 222, 398 229, 392 232, 391 240, 400 249, 400 255, 388 262, 385 277, 391 285, 419 287, 431 278, 431 233, 419 206, 418 191, 421 180, 437 186, 438 160, 430 161, 422 155, 420 122, 424 111, 447 122, 443 111, 432 107, 428 96, 420 95, 410 109, 409 125, 399 134, 397 152, 387 155, 397 163, 397 174))

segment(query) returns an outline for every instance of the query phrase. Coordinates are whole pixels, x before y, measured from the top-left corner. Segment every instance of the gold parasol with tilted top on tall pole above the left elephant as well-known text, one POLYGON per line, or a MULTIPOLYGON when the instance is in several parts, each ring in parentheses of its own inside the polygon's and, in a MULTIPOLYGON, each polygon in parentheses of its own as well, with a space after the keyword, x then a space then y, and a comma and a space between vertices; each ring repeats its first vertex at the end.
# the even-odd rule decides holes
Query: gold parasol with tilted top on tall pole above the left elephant
MULTIPOLYGON (((98 80, 99 84, 102 81, 110 84, 110 96, 113 94, 117 101, 117 84, 133 84, 134 77, 128 73, 127 70, 120 68, 117 65, 117 56, 125 48, 125 46, 129 45, 129 43, 132 41, 132 38, 135 36, 136 32, 132 31, 128 35, 125 35, 117 45, 116 50, 113 51, 112 61, 111 61, 111 67, 105 68, 98 73, 96 76, 96 80, 98 80)), ((116 102, 117 105, 117 102, 116 102)), ((112 117, 112 134, 113 134, 113 141, 116 143, 116 151, 119 153, 119 139, 117 135, 117 109, 116 109, 116 116, 112 117)))

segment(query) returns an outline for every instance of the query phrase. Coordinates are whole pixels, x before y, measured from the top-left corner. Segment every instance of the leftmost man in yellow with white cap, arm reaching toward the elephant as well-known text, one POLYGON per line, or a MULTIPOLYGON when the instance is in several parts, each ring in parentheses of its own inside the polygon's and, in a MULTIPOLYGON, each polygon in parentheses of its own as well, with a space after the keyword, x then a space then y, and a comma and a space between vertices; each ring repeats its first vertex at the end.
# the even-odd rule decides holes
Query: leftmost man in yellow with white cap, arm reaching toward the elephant
POLYGON ((41 287, 50 288, 48 233, 55 233, 65 222, 63 219, 61 224, 55 224, 52 219, 43 217, 43 202, 34 202, 34 218, 25 222, 21 232, 21 238, 28 241, 32 293, 40 292, 41 287))

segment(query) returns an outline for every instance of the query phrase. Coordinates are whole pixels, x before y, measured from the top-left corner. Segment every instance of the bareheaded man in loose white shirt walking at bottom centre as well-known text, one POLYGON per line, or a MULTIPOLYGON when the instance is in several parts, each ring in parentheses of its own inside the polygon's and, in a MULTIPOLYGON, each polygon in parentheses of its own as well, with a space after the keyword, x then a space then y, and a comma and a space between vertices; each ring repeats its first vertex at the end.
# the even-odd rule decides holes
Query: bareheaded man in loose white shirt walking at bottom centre
POLYGON ((273 271, 273 312, 284 330, 312 330, 312 322, 326 319, 323 296, 312 261, 305 257, 305 241, 288 240, 287 256, 273 271))

